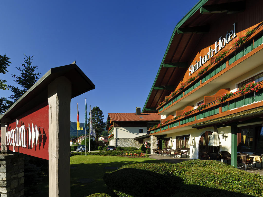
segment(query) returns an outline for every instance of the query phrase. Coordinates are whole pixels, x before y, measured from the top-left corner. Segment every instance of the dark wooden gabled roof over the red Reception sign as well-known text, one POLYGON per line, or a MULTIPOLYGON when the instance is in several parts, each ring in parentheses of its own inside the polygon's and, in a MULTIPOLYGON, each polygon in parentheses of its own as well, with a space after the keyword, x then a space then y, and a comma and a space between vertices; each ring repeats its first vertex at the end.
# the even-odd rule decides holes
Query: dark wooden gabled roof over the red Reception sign
MULTIPOLYGON (((60 76, 67 77, 71 82, 72 98, 79 96, 89 90, 95 89, 95 85, 84 74, 77 64, 69 64, 50 69, 41 77, 17 102, 14 103, 2 118, 16 118, 26 111, 47 102, 48 84, 60 76)), ((48 103, 48 102, 47 102, 48 103)))

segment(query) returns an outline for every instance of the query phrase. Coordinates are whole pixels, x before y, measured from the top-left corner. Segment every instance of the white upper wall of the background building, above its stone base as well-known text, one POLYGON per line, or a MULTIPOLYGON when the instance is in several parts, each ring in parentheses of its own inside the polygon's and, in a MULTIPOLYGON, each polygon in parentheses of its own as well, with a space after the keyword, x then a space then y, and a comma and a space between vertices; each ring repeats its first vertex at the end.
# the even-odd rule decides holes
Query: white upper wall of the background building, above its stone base
POLYGON ((135 138, 147 134, 147 127, 117 127, 115 138, 135 138), (139 133, 143 129, 143 133, 139 133))

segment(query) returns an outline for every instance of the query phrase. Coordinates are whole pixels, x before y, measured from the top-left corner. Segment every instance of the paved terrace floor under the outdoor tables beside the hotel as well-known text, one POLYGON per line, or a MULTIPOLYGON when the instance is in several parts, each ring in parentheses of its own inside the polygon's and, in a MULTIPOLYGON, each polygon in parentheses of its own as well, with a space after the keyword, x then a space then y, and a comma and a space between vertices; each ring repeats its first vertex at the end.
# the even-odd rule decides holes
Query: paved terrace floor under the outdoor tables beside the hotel
MULTIPOLYGON (((188 161, 189 159, 187 158, 173 158, 173 157, 164 157, 164 156, 161 156, 161 155, 156 155, 156 154, 149 154, 149 158, 153 158, 153 159, 158 159, 158 160, 163 160, 164 162, 168 162, 168 163, 180 163, 180 162, 183 162, 183 161, 188 161)), ((241 170, 245 170, 245 168, 241 168, 241 170)), ((261 168, 261 163, 258 164, 257 163, 257 166, 254 167, 254 170, 252 170, 252 168, 249 168, 247 169, 247 172, 249 173, 258 173, 260 175, 263 175, 263 168, 261 168), (255 170, 255 168, 257 169, 260 169, 260 170, 255 170)))

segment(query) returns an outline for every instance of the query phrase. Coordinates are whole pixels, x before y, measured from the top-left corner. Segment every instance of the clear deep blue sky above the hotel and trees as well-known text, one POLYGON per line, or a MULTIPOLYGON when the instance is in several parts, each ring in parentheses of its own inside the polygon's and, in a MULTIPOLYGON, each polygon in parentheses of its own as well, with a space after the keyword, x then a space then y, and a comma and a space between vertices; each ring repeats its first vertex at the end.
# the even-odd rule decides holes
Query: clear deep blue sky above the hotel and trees
MULTIPOLYGON (((198 1, 2 1, 0 54, 12 64, 34 55, 41 77, 76 61, 95 90, 71 100, 70 120, 87 105, 108 113, 144 106, 175 25, 198 1)), ((0 96, 12 92, 0 90, 0 96)))

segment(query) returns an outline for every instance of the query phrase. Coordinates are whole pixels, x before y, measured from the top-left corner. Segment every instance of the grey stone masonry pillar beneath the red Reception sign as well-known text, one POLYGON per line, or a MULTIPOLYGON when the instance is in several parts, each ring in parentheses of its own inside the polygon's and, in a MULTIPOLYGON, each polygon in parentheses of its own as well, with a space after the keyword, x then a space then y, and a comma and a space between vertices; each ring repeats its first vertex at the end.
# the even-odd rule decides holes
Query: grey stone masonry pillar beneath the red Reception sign
POLYGON ((0 196, 24 195, 24 156, 0 154, 0 196))

